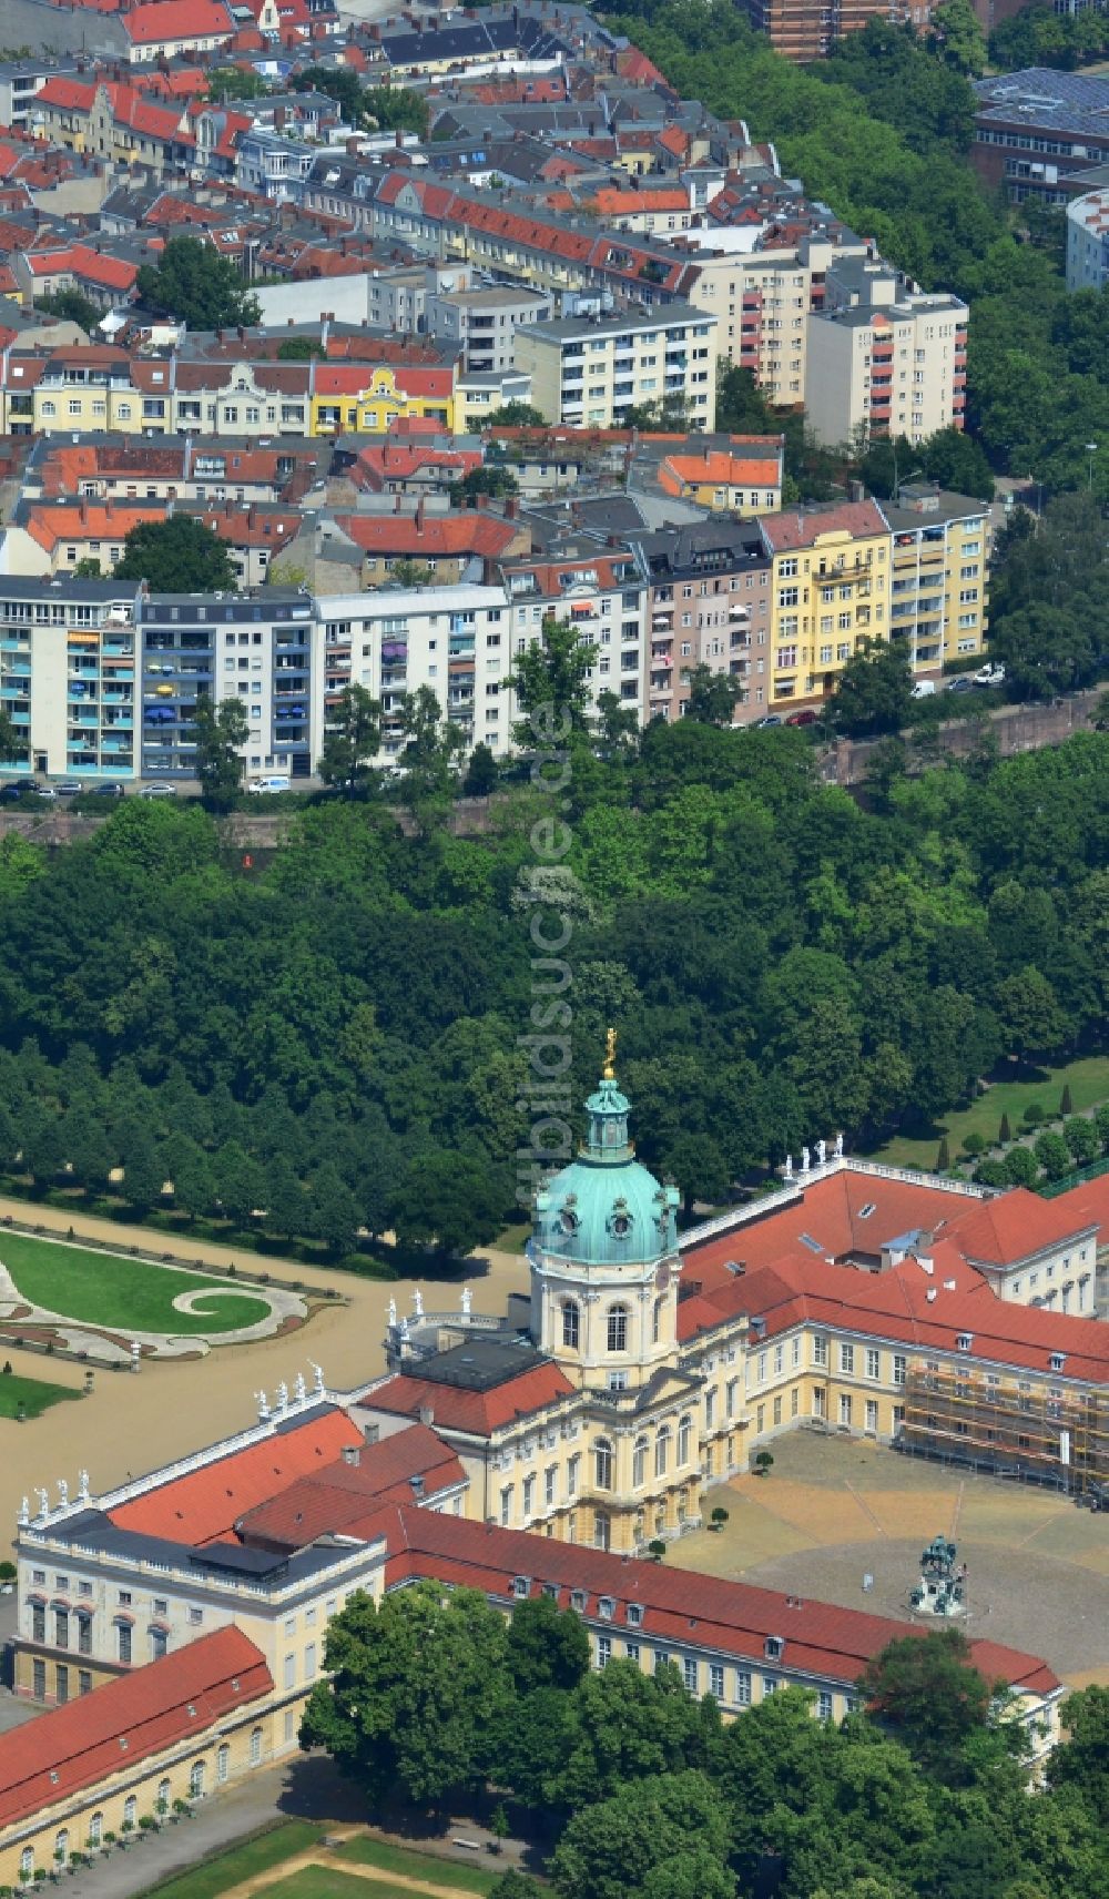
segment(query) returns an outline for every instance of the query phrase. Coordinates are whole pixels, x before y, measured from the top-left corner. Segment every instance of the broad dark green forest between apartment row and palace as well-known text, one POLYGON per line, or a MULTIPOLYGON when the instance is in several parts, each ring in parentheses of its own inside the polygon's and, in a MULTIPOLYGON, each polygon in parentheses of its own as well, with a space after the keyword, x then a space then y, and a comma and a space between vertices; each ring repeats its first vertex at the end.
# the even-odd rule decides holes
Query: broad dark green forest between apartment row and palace
MULTIPOLYGON (((604 1031, 642 1158, 722 1200, 843 1128, 921 1128, 999 1063, 1103 1046, 1109 735, 820 782, 799 731, 684 720, 570 746, 573 1105, 604 1031), (596 756, 604 750, 606 756, 596 756)), ((0 1170, 344 1257, 359 1227, 467 1250, 526 1145, 536 824, 323 798, 243 868, 201 807, 0 843, 0 1170), (161 1187, 173 1181, 173 1206, 161 1187)), ((1107 1130, 1109 1132, 1109 1130, 1107 1130)))

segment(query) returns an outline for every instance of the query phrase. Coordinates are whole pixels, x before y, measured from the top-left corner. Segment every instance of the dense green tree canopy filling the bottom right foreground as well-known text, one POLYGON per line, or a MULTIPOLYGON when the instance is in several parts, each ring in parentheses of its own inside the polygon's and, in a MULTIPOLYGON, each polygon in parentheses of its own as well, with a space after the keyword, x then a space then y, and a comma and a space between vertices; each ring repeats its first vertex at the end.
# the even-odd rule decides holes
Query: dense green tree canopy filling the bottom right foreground
MULTIPOLYGON (((374 1806, 399 1789, 480 1812, 490 1779, 556 1899, 1109 1899, 1103 1688, 1065 1705, 1069 1739, 1029 1795, 1024 1728, 951 1631, 891 1643, 858 1684, 870 1705, 839 1726, 799 1688, 724 1724, 674 1664, 585 1673, 585 1652, 547 1601, 505 1629, 465 1589, 355 1597, 302 1741, 374 1806)), ((494 1895, 539 1890, 513 1871, 494 1895)))

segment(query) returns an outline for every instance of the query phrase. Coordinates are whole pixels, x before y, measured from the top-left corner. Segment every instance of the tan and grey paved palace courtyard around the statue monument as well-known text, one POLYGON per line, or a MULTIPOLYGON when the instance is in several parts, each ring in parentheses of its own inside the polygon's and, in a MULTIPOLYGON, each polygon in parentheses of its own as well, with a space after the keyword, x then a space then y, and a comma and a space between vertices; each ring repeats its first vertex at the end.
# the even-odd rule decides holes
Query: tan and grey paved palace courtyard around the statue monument
POLYGON ((1109 1683, 1109 1515, 811 1430, 779 1438, 773 1457, 767 1477, 714 1489, 705 1514, 720 1504, 727 1525, 668 1561, 904 1616, 921 1550, 942 1532, 968 1565, 970 1635, 1044 1656, 1071 1686, 1109 1683))

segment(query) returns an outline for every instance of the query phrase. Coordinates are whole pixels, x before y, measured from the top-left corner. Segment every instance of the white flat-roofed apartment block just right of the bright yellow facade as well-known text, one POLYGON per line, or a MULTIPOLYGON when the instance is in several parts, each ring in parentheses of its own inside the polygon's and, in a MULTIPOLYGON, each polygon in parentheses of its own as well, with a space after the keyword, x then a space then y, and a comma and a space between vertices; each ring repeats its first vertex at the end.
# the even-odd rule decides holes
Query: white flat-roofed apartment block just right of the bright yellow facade
POLYGON ((625 317, 564 317, 518 330, 517 368, 553 423, 613 429, 644 404, 684 406, 691 427, 716 423, 716 321, 689 304, 625 317))

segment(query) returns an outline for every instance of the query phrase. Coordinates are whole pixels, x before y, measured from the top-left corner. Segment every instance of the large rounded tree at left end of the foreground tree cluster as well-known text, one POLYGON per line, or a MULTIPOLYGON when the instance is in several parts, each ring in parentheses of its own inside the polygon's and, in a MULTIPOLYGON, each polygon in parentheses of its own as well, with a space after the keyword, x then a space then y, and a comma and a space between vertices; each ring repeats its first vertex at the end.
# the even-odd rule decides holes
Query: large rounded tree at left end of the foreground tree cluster
POLYGON ((511 1688, 503 1616, 475 1589, 418 1582, 332 1618, 302 1747, 327 1747, 372 1802, 450 1810, 484 1787, 511 1688))

